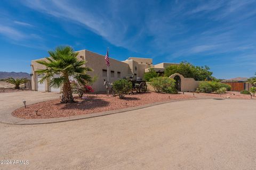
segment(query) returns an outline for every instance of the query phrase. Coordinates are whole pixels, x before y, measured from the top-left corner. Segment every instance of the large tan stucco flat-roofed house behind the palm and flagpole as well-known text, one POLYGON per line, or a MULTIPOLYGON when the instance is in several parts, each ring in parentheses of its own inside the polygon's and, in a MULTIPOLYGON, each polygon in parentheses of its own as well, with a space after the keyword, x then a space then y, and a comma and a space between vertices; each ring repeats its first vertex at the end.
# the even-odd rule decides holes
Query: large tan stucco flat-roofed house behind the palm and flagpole
MULTIPOLYGON (((85 65, 93 69, 92 72, 87 73, 92 77, 97 77, 97 81, 95 81, 92 86, 94 91, 105 91, 106 88, 103 86, 103 79, 107 79, 105 56, 90 52, 89 50, 79 50, 77 57, 79 60, 85 60, 87 62, 85 65)), ((46 60, 46 58, 38 60, 46 60)), ((35 71, 38 69, 45 69, 44 65, 36 62, 38 60, 31 61, 32 90, 60 92, 60 89, 51 88, 46 81, 42 84, 38 82, 43 75, 38 75, 35 71)), ((118 61, 110 58, 109 81, 114 82, 122 79, 123 77, 131 76, 132 74, 134 77, 143 77, 143 74, 148 72, 149 68, 154 68, 157 72, 163 72, 167 66, 172 64, 177 63, 160 63, 153 65, 153 60, 151 58, 130 57, 125 61, 118 61)), ((55 76, 58 77, 58 75, 55 76)))

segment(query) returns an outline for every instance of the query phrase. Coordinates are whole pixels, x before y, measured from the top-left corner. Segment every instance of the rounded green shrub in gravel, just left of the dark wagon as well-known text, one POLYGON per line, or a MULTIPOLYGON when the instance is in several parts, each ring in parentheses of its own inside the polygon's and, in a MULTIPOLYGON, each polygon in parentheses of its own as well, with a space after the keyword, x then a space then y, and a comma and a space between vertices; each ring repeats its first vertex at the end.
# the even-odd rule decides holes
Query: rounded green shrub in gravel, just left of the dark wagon
POLYGON ((132 90, 132 82, 125 79, 117 80, 113 83, 113 89, 117 92, 119 98, 124 98, 132 90))

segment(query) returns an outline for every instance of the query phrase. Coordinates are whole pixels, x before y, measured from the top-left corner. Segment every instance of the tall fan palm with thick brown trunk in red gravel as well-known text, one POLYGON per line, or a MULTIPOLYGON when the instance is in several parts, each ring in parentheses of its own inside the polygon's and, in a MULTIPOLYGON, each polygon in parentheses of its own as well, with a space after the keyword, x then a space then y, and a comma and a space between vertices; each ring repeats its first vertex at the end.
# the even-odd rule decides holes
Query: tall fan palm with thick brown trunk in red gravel
POLYGON ((44 74, 39 82, 43 83, 47 80, 50 87, 62 87, 62 103, 73 103, 74 98, 69 77, 82 84, 91 82, 92 78, 86 72, 92 71, 92 69, 84 65, 85 61, 79 61, 77 58, 78 52, 74 52, 73 48, 69 46, 59 46, 48 53, 50 57, 46 57, 47 60, 37 61, 37 63, 46 66, 46 69, 36 71, 38 74, 44 74), (54 74, 59 74, 60 77, 54 78, 54 74))

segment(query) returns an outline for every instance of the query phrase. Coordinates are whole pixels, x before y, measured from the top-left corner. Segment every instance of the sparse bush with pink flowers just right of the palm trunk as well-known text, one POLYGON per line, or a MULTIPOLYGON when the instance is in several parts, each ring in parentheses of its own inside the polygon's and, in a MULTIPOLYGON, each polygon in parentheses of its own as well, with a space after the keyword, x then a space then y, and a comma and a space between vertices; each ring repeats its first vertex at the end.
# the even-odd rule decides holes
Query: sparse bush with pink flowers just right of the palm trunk
POLYGON ((86 92, 94 92, 91 86, 86 84, 81 84, 76 81, 71 81, 70 85, 71 85, 73 94, 78 94, 79 97, 83 97, 83 95, 86 92))

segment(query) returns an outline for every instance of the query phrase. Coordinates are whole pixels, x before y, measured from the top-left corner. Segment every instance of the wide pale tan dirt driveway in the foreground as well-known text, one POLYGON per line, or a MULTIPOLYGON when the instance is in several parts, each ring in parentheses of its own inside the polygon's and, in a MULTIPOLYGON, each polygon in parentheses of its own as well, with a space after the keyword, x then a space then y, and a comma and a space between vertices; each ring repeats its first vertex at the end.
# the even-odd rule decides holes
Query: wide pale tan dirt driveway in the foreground
POLYGON ((255 169, 254 100, 177 101, 86 120, 0 124, 0 169, 255 169))

